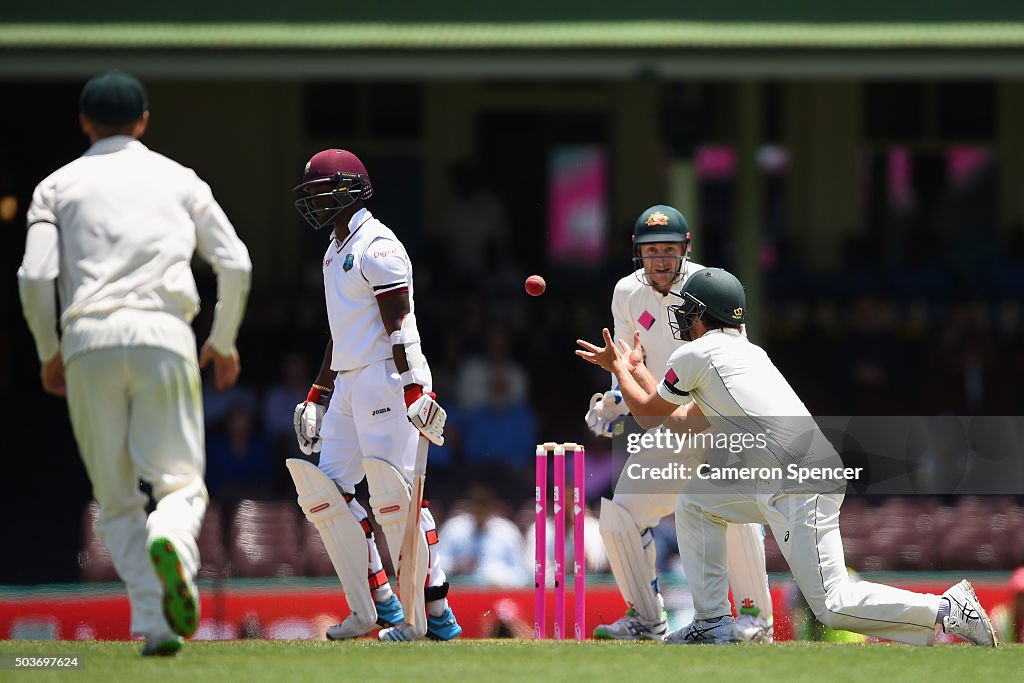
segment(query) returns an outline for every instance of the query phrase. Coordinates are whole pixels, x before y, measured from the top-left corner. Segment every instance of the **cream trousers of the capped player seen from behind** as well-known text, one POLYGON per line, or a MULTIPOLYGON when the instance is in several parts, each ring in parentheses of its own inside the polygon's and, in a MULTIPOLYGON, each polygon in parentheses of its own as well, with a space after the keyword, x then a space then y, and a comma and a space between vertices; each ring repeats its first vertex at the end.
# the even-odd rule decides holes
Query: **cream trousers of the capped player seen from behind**
MULTIPOLYGON (((190 334, 190 330, 189 330, 190 334)), ((72 356, 66 368, 68 410, 99 506, 96 536, 128 591, 131 630, 166 632, 161 587, 146 548, 174 542, 195 580, 208 496, 199 367, 155 347, 110 347, 72 356), (146 518, 142 479, 156 510, 146 518)))

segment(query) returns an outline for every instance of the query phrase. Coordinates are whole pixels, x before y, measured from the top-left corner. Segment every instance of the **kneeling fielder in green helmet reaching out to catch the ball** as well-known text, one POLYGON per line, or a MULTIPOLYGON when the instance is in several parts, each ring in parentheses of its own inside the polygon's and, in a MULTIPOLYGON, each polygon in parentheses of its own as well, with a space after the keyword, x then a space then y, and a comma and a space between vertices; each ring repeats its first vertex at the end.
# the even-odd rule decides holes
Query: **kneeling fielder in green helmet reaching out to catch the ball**
MULTIPOLYGON (((634 415, 669 416, 686 405, 684 421, 706 419, 750 435, 765 446, 743 449, 757 466, 841 462, 785 377, 761 347, 740 332, 746 296, 721 268, 693 273, 672 307, 674 333, 688 342, 673 351, 660 381, 628 357, 629 348, 603 330, 604 346, 580 341, 577 354, 614 373, 634 415), (643 376, 643 381, 635 379, 643 376), (652 387, 652 388, 647 388, 652 387), (688 399, 688 400, 684 400, 688 399), (787 417, 778 417, 787 416, 787 417), (810 428, 795 430, 799 419, 810 428)), ((691 479, 676 506, 683 570, 693 595, 693 622, 670 633, 670 644, 727 644, 738 634, 729 607, 726 562, 728 524, 769 524, 793 578, 824 626, 911 645, 935 642, 935 627, 975 645, 997 643, 971 583, 942 595, 850 580, 840 531, 841 487, 786 486, 777 480, 745 486, 706 486, 691 479)))

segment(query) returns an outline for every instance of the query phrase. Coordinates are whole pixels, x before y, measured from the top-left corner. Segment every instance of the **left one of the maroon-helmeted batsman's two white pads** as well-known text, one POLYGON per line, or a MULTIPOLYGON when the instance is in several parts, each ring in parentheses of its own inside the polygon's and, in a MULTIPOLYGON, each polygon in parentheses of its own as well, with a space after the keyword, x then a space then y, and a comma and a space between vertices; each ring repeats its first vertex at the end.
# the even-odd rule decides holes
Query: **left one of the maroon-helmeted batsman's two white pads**
POLYGON ((338 572, 348 607, 366 622, 377 621, 370 594, 367 535, 338 486, 315 465, 299 458, 285 461, 295 481, 299 507, 319 531, 338 572))

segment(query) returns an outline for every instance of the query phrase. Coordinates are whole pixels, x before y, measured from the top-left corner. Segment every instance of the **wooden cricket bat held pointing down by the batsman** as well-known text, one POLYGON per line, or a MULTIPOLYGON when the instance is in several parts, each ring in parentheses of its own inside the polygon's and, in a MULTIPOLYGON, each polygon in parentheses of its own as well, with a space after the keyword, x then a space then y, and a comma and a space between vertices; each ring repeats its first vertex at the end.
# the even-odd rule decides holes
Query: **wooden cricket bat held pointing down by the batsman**
POLYGON ((417 635, 427 633, 427 609, 423 582, 427 575, 427 539, 420 529, 420 508, 423 506, 423 485, 427 479, 427 449, 430 441, 420 436, 416 446, 416 464, 413 467, 413 497, 401 536, 398 554, 398 596, 406 612, 406 624, 417 635))

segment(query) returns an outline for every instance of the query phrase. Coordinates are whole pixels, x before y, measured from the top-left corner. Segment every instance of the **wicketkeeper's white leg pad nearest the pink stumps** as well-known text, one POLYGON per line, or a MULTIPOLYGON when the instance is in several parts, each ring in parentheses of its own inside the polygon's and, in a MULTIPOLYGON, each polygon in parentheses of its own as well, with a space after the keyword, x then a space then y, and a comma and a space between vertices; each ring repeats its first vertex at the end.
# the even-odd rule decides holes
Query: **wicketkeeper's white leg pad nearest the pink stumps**
POLYGON ((626 508, 602 498, 599 528, 608 564, 623 597, 643 618, 659 621, 662 605, 653 587, 654 567, 648 561, 640 541, 640 528, 633 516, 626 508))

